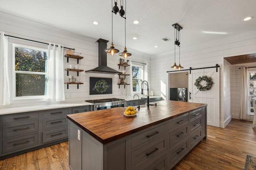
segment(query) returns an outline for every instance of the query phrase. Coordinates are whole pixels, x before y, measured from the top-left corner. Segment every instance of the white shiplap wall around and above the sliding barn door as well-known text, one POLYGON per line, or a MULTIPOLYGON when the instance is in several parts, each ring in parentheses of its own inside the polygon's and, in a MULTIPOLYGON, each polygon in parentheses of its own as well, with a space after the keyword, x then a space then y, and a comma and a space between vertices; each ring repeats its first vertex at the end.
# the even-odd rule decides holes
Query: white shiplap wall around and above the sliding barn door
MULTIPOLYGON (((239 35, 230 36, 224 39, 209 41, 201 45, 192 46, 186 49, 180 49, 180 63, 184 69, 200 68, 215 66, 219 64, 220 68, 220 127, 225 125, 230 120, 229 117, 231 109, 226 109, 224 112, 224 57, 231 57, 236 55, 250 54, 256 52, 256 30, 241 33, 239 35)), ((174 63, 174 52, 159 54, 151 57, 151 62, 156 65, 151 68, 151 87, 155 91, 156 96, 168 98, 168 82, 166 71, 172 70, 170 68, 174 63)), ((231 73, 229 73, 231 74, 231 73)), ((229 80, 227 80, 229 81, 229 80)), ((230 86, 228 84, 228 86, 230 86)), ((228 88, 228 87, 227 87, 228 88)), ((230 92, 230 96, 233 96, 230 92)), ((236 93, 236 92, 235 92, 236 93)), ((229 98, 229 95, 227 96, 229 98)), ((233 103, 231 103, 231 107, 233 103)), ((226 107, 226 106, 225 106, 226 107)))

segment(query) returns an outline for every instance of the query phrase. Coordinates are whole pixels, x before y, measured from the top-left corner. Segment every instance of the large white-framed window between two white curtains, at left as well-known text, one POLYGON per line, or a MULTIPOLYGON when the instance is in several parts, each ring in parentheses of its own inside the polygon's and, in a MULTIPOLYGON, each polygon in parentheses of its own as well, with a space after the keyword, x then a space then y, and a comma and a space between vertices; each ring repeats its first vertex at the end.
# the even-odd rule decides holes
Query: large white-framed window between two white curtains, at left
POLYGON ((13 44, 14 98, 46 95, 47 49, 13 44))

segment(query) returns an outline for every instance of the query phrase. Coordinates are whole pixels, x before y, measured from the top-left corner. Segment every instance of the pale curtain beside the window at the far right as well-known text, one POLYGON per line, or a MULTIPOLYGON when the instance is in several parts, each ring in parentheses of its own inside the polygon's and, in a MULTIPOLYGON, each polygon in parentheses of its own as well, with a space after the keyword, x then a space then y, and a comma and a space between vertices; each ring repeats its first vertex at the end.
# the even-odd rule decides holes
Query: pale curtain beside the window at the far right
POLYGON ((248 70, 245 67, 241 68, 242 70, 242 80, 241 80, 241 92, 240 92, 240 109, 239 116, 240 119, 250 119, 249 115, 249 85, 248 85, 248 70))

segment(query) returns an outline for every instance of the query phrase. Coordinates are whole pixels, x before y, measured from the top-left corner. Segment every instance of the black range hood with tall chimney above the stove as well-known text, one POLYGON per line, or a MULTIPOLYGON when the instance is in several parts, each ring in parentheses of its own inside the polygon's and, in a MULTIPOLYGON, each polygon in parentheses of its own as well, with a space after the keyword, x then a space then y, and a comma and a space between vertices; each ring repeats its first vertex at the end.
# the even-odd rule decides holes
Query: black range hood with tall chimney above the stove
POLYGON ((92 70, 86 70, 85 72, 94 72, 102 74, 122 74, 122 72, 119 72, 107 66, 107 53, 105 52, 105 49, 107 49, 108 40, 98 39, 97 42, 99 47, 99 66, 92 70))

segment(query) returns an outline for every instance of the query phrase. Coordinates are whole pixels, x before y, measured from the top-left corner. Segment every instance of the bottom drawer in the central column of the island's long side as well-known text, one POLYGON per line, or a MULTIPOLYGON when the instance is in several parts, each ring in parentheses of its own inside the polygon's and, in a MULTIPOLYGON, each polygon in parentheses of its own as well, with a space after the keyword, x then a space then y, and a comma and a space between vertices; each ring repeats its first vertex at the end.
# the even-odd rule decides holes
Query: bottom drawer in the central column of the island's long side
POLYGON ((170 150, 170 165, 174 166, 188 151, 188 138, 185 138, 170 150))

